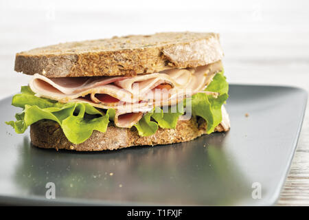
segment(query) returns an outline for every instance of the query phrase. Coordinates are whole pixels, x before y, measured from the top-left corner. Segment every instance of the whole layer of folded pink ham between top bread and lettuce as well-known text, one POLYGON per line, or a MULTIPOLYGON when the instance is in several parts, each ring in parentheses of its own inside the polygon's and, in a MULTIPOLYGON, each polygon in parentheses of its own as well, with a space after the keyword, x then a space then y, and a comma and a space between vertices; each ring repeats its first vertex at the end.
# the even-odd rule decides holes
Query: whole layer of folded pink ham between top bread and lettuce
POLYGON ((174 105, 201 92, 211 82, 216 69, 206 65, 134 77, 46 78, 34 74, 30 88, 36 96, 59 102, 84 102, 100 109, 115 109, 116 126, 129 128, 153 107, 174 105))

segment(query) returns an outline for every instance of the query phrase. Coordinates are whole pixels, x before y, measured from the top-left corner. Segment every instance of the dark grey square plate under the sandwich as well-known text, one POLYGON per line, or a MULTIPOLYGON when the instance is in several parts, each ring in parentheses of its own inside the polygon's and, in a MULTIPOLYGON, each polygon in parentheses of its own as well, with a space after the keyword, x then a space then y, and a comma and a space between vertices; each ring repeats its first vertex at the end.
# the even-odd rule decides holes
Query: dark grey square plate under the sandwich
POLYGON ((0 101, 0 203, 90 205, 272 205, 288 173, 307 93, 293 87, 231 85, 231 131, 192 142, 76 153, 40 149, 5 120, 0 101), (245 114, 249 113, 249 117, 245 114), (56 199, 46 199, 48 182, 56 199))

